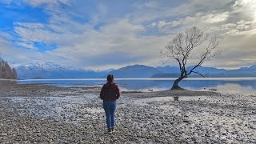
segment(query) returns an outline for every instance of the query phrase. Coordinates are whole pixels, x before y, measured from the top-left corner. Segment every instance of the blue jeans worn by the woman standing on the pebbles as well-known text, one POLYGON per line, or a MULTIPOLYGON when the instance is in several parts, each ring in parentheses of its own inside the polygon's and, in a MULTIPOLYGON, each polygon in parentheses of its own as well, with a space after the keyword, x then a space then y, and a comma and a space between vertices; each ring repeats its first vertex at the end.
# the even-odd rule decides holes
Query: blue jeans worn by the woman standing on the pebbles
POLYGON ((103 101, 103 108, 106 113, 106 126, 107 128, 114 127, 114 111, 117 107, 117 103, 115 101, 103 101))

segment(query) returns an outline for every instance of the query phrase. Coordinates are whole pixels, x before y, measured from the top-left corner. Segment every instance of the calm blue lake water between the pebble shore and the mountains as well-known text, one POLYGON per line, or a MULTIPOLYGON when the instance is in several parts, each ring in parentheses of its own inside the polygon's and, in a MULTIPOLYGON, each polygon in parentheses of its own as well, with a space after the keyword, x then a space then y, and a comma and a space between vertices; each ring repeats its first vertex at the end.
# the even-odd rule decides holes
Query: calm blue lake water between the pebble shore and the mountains
MULTIPOLYGON (((169 90, 175 78, 115 78, 122 91, 169 90)), ((102 86, 106 79, 27 79, 18 84, 43 83, 51 86, 87 87, 102 86)), ((188 90, 217 90, 224 94, 256 95, 256 78, 186 78, 179 86, 188 90)))

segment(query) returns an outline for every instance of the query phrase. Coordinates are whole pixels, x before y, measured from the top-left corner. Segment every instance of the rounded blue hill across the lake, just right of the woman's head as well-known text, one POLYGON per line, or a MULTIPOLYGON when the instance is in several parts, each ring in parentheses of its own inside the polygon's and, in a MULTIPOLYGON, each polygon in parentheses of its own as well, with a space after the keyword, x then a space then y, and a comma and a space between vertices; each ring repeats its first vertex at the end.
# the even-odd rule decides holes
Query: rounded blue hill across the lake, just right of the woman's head
POLYGON ((150 66, 134 65, 110 71, 108 74, 114 74, 114 78, 150 78, 154 74, 162 74, 162 71, 150 66))

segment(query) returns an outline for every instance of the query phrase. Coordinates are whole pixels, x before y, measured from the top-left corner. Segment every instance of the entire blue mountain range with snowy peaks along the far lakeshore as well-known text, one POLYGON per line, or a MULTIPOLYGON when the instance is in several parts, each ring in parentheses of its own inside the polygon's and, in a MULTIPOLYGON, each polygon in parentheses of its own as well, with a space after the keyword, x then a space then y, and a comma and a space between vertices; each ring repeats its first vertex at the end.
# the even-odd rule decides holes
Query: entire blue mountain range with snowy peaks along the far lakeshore
MULTIPOLYGON (((114 78, 177 78, 178 66, 125 66, 118 70, 83 70, 71 66, 60 66, 54 63, 26 63, 12 65, 18 73, 18 78, 106 78, 107 74, 114 74, 114 78)), ((193 66, 188 66, 187 70, 193 66)), ((242 67, 237 70, 218 69, 214 67, 199 66, 195 69, 205 77, 256 77, 256 65, 242 67)), ((191 74, 190 77, 201 77, 191 74)))

